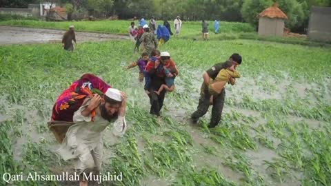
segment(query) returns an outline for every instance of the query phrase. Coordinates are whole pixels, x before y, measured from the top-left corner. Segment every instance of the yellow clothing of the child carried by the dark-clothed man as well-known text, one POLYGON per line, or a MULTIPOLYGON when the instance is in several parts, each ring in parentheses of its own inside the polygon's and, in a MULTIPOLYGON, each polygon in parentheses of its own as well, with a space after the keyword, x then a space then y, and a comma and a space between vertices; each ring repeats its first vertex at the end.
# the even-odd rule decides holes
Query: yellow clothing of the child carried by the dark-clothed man
POLYGON ((219 94, 223 88, 225 88, 226 83, 228 83, 229 79, 231 76, 232 78, 240 78, 240 74, 237 70, 234 70, 232 72, 231 70, 228 69, 222 69, 219 71, 219 74, 217 74, 217 77, 215 80, 210 80, 209 81, 209 92, 212 95, 219 94))

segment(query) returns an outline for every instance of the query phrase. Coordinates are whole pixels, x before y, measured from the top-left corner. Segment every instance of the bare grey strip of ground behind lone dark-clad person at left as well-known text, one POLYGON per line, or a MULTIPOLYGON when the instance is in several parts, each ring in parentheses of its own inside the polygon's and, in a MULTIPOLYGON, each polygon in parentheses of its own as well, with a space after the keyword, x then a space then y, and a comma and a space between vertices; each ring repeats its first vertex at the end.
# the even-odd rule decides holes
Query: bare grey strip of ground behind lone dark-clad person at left
MULTIPOLYGON (((61 42, 65 30, 51 30, 41 28, 22 28, 0 26, 0 45, 29 44, 29 43, 57 43, 61 42)), ((76 32, 77 42, 106 41, 112 39, 129 39, 117 34, 101 34, 95 32, 76 32)))

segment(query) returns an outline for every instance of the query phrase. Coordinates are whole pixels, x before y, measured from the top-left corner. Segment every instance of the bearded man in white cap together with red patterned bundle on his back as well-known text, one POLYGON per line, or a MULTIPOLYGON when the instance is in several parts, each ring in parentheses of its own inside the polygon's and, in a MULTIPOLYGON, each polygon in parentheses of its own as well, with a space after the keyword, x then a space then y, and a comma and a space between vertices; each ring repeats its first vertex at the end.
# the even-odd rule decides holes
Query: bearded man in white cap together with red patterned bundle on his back
POLYGON ((84 74, 54 104, 48 126, 61 143, 61 157, 65 161, 74 160, 81 186, 88 185, 83 174, 99 174, 102 133, 106 127, 114 123, 114 136, 123 136, 126 132, 126 99, 124 92, 111 88, 99 77, 84 74), (94 91, 98 94, 92 94, 94 91))

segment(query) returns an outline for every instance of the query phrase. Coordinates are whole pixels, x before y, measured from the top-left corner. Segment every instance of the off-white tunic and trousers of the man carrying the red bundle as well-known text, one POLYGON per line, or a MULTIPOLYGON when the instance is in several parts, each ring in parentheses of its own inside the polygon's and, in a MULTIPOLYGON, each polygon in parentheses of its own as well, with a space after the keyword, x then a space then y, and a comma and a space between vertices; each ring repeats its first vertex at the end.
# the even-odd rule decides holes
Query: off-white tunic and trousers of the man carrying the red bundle
POLYGON ((114 136, 123 136, 126 132, 126 119, 123 116, 118 116, 109 122, 99 115, 95 116, 94 121, 91 121, 91 115, 81 115, 89 103, 90 101, 87 101, 74 112, 75 124, 69 127, 59 148, 59 154, 65 161, 75 160, 75 169, 79 174, 93 170, 100 171, 103 156, 102 133, 110 123, 114 123, 112 130, 114 136))

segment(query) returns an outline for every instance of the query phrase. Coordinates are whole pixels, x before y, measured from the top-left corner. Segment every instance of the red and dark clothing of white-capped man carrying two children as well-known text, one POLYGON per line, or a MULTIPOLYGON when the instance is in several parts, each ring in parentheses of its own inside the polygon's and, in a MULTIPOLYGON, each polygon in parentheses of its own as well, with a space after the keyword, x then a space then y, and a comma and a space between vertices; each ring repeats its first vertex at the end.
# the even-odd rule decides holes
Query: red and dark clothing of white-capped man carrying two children
MULTIPOLYGON (((150 89, 148 97, 150 98, 150 114, 155 114, 157 116, 160 115, 160 110, 163 106, 163 101, 165 97, 165 90, 163 90, 159 95, 154 91, 158 91, 162 84, 165 84, 165 72, 163 68, 154 68, 155 62, 151 61, 146 66, 146 72, 149 74, 151 78, 150 89)), ((160 66, 160 65, 159 65, 160 66)), ((174 61, 170 59, 168 65, 166 66, 170 70, 170 72, 178 75, 178 70, 176 68, 176 64, 174 61)))

